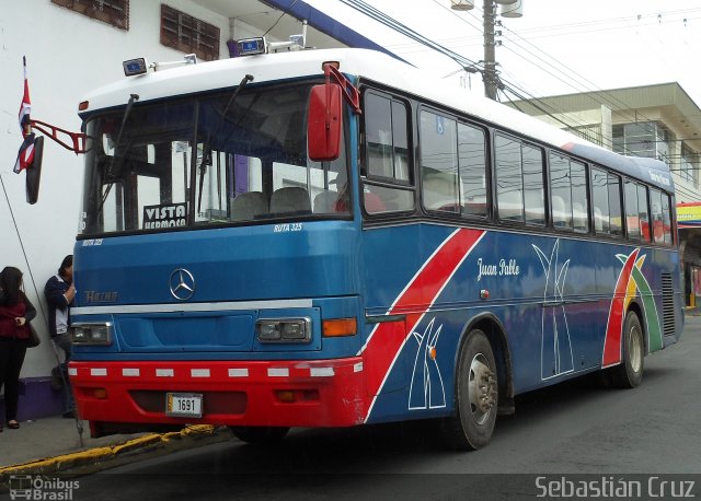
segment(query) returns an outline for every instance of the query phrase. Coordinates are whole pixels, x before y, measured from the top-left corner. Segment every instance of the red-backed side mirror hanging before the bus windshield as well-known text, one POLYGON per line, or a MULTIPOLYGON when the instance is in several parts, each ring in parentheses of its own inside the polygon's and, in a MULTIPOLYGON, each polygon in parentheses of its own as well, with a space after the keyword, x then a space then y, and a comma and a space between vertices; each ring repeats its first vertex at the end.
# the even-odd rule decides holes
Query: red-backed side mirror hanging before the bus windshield
POLYGON ((314 85, 307 114, 307 151, 314 162, 331 162, 341 153, 341 85, 314 85))

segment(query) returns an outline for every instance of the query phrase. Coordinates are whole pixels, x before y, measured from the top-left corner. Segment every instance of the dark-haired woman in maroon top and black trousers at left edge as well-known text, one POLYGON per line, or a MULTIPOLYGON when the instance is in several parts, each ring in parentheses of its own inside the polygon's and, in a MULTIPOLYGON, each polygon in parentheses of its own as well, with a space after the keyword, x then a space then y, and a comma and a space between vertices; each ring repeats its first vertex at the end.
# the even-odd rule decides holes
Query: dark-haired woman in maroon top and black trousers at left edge
POLYGON ((5 267, 0 272, 0 387, 4 385, 4 415, 11 430, 20 428, 20 371, 30 339, 30 321, 35 316, 36 310, 22 290, 22 271, 5 267))

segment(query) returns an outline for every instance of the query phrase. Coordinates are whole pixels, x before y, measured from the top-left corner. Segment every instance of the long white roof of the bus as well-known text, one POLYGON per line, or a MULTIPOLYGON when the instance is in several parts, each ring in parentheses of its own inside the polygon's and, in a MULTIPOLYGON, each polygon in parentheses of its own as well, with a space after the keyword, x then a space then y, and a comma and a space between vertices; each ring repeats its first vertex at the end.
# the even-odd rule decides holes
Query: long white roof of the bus
POLYGON ((89 102, 90 107, 87 113, 90 113, 124 106, 130 94, 138 94, 139 103, 143 103, 223 90, 238 85, 245 74, 253 75, 252 84, 322 75, 324 61, 338 61, 341 71, 346 74, 421 96, 435 104, 493 124, 507 132, 532 138, 614 168, 628 176, 643 179, 666 191, 673 191, 673 178, 669 167, 664 162, 613 153, 501 103, 478 96, 458 88, 455 83, 435 78, 426 71, 386 54, 368 49, 300 50, 185 65, 125 78, 93 91, 82 101, 89 102))

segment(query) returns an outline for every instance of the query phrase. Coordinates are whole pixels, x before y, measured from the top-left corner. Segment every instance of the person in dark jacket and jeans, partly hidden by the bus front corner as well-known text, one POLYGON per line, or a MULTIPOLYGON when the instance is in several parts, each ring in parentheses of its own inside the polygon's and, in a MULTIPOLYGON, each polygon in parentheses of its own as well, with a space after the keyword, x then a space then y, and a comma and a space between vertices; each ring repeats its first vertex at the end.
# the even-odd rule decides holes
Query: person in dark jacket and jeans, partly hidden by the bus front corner
POLYGON ((61 261, 58 275, 46 282, 44 295, 48 303, 48 330, 54 342, 64 350, 64 363, 51 371, 56 386, 64 386, 64 417, 76 417, 73 395, 68 380, 68 362, 70 361, 71 340, 68 326, 70 325, 70 307, 76 298, 73 287, 73 256, 69 254, 61 261), (61 384, 64 383, 64 384, 61 384))

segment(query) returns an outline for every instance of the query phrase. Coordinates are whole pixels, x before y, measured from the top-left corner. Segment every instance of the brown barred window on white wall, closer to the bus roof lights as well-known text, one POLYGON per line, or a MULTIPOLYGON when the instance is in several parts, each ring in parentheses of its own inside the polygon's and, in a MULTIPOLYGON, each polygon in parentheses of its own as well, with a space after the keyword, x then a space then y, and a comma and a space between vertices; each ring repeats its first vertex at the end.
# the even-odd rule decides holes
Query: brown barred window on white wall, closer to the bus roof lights
POLYGON ((198 59, 219 59, 219 28, 161 3, 161 44, 198 59))

